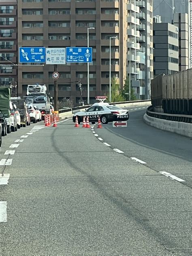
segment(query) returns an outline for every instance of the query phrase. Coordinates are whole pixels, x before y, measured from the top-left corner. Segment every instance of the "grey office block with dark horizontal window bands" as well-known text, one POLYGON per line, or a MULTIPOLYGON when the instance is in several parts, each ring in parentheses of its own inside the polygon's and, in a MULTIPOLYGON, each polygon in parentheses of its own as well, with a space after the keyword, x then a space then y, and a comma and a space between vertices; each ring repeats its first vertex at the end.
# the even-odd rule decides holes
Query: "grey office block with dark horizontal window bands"
POLYGON ((154 23, 154 76, 179 71, 179 29, 170 23, 154 23))

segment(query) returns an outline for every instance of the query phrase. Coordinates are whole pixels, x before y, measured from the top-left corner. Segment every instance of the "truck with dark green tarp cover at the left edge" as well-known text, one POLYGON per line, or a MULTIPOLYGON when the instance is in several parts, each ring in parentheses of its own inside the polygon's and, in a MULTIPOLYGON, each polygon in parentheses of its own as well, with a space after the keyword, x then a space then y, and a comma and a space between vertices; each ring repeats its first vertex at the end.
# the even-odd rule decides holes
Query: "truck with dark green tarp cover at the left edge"
POLYGON ((0 87, 0 111, 6 119, 7 133, 11 132, 11 90, 9 87, 0 87))

